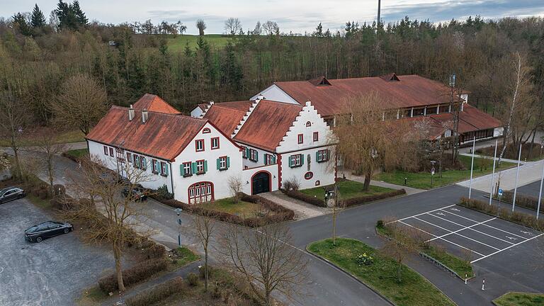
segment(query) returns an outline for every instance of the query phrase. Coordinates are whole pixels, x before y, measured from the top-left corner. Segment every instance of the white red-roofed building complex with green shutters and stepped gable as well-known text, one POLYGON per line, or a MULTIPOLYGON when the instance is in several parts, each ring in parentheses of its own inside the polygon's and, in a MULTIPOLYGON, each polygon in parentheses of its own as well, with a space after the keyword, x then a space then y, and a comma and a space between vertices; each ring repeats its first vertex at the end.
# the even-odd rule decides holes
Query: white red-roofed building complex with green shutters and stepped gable
POLYGON ((258 98, 204 111, 181 115, 153 95, 133 108, 112 106, 86 136, 89 153, 121 175, 120 164, 142 169, 151 178, 143 186, 166 186, 185 203, 231 196, 231 178, 248 194, 276 191, 287 179, 301 188, 334 183, 331 131, 310 102, 258 98))

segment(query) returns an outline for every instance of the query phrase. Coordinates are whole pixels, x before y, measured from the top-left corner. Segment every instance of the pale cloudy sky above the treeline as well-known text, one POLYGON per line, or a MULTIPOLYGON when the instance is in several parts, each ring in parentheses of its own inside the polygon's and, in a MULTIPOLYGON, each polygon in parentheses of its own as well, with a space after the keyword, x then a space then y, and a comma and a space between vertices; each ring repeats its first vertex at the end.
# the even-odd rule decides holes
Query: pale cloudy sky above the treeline
MULTIPOLYGON (((32 11, 34 4, 49 18, 58 0, 0 0, 0 16, 8 18, 18 11, 32 11)), ((64 0, 70 1, 70 0, 64 0)), ((378 0, 79 0, 89 21, 181 21, 188 34, 196 34, 195 23, 202 18, 206 33, 223 33, 225 20, 239 18, 244 31, 257 21, 276 21, 285 33, 311 33, 318 23, 339 30, 346 21, 372 23, 378 0)), ((404 16, 434 23, 465 19, 544 16, 544 0, 382 0, 382 21, 398 21, 404 16)))

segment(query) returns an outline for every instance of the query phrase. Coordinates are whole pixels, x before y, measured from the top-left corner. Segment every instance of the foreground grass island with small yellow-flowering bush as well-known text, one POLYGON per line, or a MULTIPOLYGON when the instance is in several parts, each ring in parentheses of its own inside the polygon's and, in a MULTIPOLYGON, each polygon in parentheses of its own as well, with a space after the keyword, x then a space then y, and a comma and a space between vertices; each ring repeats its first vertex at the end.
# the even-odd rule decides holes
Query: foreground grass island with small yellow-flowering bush
POLYGON ((455 305, 446 295, 443 295, 433 284, 419 273, 407 266, 402 266, 402 282, 397 281, 397 263, 382 256, 373 247, 355 239, 337 238, 336 246, 332 239, 313 242, 308 245, 308 251, 324 257, 339 268, 356 276, 366 285, 398 306, 441 306, 455 305), (360 254, 370 254, 374 258, 368 266, 359 266, 356 257, 360 254))

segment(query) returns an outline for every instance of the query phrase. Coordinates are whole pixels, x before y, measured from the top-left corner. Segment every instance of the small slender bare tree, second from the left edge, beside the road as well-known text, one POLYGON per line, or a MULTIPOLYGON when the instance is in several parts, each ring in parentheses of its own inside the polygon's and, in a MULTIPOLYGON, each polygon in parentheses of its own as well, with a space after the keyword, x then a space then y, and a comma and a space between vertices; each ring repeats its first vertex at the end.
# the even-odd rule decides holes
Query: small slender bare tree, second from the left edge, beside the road
POLYGON ((42 153, 42 170, 47 175, 51 194, 55 194, 53 181, 55 179, 55 156, 64 152, 66 145, 57 144, 57 131, 52 128, 43 128, 37 132, 34 137, 37 143, 38 150, 42 153))

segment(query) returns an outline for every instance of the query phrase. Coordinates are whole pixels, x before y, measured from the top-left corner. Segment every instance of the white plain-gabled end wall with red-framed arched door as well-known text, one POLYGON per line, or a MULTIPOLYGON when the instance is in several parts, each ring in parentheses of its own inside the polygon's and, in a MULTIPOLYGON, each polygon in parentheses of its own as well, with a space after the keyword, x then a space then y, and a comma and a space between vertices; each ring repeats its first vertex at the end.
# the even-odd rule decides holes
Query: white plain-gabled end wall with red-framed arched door
POLYGON ((228 188, 228 179, 230 176, 240 176, 242 171, 242 152, 239 147, 230 142, 225 135, 206 123, 204 128, 210 128, 211 132, 204 134, 202 130, 198 135, 189 142, 189 145, 183 149, 183 152, 176 157, 172 163, 172 177, 174 178, 174 197, 176 200, 188 203, 188 187, 193 183, 210 181, 213 183, 215 199, 228 198, 231 196, 228 188), (212 137, 219 137, 220 148, 211 149, 212 137), (195 140, 204 140, 204 151, 196 152, 195 140), (219 157, 228 156, 230 158, 229 169, 220 171, 217 170, 216 160, 219 157), (183 177, 180 172, 180 165, 183 162, 196 162, 204 159, 208 161, 208 171, 205 174, 193 174, 192 176, 183 177))

